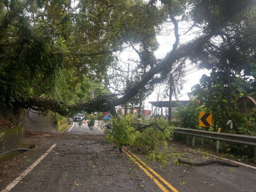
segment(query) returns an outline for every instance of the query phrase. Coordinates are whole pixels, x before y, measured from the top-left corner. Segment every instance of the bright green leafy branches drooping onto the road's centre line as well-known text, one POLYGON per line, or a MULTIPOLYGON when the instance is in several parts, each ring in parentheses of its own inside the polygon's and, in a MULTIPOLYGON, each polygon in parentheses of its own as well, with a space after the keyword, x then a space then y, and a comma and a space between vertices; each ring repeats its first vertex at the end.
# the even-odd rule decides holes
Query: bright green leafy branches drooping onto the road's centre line
POLYGON ((156 155, 156 152, 152 152, 152 150, 154 151, 160 146, 162 148, 167 147, 167 141, 171 140, 171 135, 175 129, 168 120, 159 118, 155 125, 142 131, 136 131, 132 126, 133 118, 132 115, 114 118, 111 126, 105 131, 105 139, 108 142, 115 143, 119 149, 122 146, 129 145, 134 149, 148 153, 149 156, 156 155))

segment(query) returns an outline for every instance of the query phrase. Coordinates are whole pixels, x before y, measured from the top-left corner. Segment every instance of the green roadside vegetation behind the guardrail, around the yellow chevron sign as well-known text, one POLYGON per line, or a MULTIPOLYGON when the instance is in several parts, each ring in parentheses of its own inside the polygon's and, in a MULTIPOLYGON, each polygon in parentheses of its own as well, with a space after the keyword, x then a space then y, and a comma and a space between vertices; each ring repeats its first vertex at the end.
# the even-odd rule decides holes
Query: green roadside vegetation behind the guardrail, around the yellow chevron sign
MULTIPOLYGON (((254 73, 252 69, 251 74, 254 73)), ((177 110, 176 118, 177 122, 173 122, 175 126, 199 129, 199 112, 211 112, 212 113, 212 126, 205 127, 206 131, 217 132, 218 128, 221 128, 220 132, 234 133, 243 135, 256 136, 256 117, 255 115, 247 118, 241 116, 236 109, 237 99, 241 96, 253 96, 255 95, 254 87, 251 81, 247 81, 247 77, 232 76, 231 78, 231 106, 232 106, 232 121, 233 129, 227 125, 228 117, 228 89, 225 86, 227 77, 225 72, 212 72, 210 76, 203 75, 200 83, 192 87, 193 93, 198 97, 196 100, 199 102, 190 101, 187 105, 179 107, 177 110), (211 96, 209 96, 211 95, 211 96), (250 122, 249 122, 250 120, 250 122)), ((254 97, 255 98, 255 97, 254 97)), ((180 139, 185 140, 184 136, 179 136, 180 139)), ((196 143, 200 144, 201 139, 196 139, 196 143)), ((204 141, 206 146, 213 147, 214 142, 211 140, 204 141)), ((244 145, 236 145, 232 143, 220 142, 220 151, 224 153, 230 153, 230 156, 242 156, 240 158, 253 159, 253 148, 244 145)))

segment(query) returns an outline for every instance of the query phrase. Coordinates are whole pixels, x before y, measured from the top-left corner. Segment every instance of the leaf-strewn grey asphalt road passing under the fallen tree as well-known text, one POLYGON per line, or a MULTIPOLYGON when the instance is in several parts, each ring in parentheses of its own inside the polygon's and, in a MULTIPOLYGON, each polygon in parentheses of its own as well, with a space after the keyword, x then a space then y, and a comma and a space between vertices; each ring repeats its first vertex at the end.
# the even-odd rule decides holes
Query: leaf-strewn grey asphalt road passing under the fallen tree
POLYGON ((27 132, 25 143, 38 146, 0 164, 0 192, 256 191, 256 169, 180 165, 178 157, 194 161, 214 157, 173 142, 167 164, 151 162, 129 147, 120 153, 103 135, 97 127, 91 131, 78 123, 63 133, 27 132))

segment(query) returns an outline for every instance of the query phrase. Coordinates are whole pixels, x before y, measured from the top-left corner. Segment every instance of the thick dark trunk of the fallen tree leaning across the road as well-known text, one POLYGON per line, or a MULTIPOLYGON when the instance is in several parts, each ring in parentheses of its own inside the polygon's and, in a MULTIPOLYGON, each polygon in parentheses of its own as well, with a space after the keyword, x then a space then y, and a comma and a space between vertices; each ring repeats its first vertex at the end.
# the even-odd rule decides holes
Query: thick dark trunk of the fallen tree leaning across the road
MULTIPOLYGON (((252 1, 247 1, 246 3, 242 4, 243 6, 236 6, 233 12, 230 12, 230 14, 226 16, 225 22, 229 22, 231 19, 236 17, 239 12, 242 12, 250 4, 252 4, 252 1)), ((149 84, 156 84, 163 81, 167 77, 166 74, 171 69, 171 66, 174 62, 182 60, 185 57, 194 57, 198 60, 202 59, 202 57, 204 57, 204 55, 201 55, 203 53, 202 50, 204 49, 204 45, 209 42, 210 38, 218 35, 221 31, 221 28, 223 28, 223 26, 225 25, 225 23, 222 23, 222 25, 216 26, 216 28, 211 29, 211 31, 208 34, 196 38, 194 41, 188 44, 180 45, 180 47, 178 48, 178 22, 174 18, 174 15, 170 7, 169 17, 174 25, 175 35, 175 43, 172 45, 171 52, 169 52, 161 62, 156 64, 155 67, 151 67, 149 71, 143 76, 140 82, 134 84, 131 88, 124 90, 123 95, 121 97, 116 97, 116 95, 100 96, 86 103, 80 103, 75 106, 69 106, 59 100, 48 100, 45 98, 34 97, 22 102, 22 106, 26 108, 30 107, 34 110, 51 109, 52 111, 56 111, 64 116, 81 110, 87 111, 88 113, 93 111, 110 110, 111 113, 116 114, 115 106, 124 104, 125 102, 129 101, 132 97, 138 94, 140 90, 145 86, 148 86, 149 84), (156 76, 159 74, 160 76, 156 76)), ((149 63, 149 65, 154 66, 154 64, 151 63, 149 63)))

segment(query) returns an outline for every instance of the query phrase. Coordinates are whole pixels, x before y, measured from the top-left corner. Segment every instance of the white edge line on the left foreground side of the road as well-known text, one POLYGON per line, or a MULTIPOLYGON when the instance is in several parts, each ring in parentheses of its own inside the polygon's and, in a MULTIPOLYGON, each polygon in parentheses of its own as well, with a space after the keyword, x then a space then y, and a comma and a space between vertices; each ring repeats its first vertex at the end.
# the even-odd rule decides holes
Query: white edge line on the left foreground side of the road
POLYGON ((56 143, 52 145, 41 157, 39 157, 28 169, 26 169, 23 173, 20 174, 16 179, 14 179, 9 185, 6 186, 1 192, 8 192, 10 191, 20 180, 23 179, 37 164, 42 161, 42 159, 50 153, 50 151, 56 146, 56 143))

